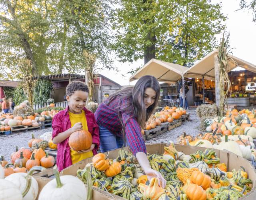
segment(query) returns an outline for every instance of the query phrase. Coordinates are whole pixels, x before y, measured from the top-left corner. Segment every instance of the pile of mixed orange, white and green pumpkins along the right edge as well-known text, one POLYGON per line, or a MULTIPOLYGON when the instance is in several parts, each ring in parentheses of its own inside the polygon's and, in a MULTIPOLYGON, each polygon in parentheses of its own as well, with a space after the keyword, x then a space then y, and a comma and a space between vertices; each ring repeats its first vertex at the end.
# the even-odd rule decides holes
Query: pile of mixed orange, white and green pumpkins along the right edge
POLYGON ((198 134, 195 138, 181 135, 178 144, 202 146, 219 150, 226 149, 247 160, 256 160, 256 149, 253 138, 256 138, 256 113, 249 110, 236 109, 228 111, 224 117, 206 119, 206 134, 198 134))

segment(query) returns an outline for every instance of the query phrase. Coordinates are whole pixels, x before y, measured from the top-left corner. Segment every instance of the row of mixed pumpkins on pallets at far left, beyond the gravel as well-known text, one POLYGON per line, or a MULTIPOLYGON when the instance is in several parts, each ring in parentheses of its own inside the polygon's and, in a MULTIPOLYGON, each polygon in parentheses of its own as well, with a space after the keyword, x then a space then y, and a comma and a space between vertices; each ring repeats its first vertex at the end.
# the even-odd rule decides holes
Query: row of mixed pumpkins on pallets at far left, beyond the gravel
POLYGON ((38 122, 44 122, 45 120, 52 120, 53 116, 57 114, 58 110, 43 111, 39 115, 38 113, 27 113, 21 116, 13 116, 10 113, 2 114, 0 116, 0 131, 11 130, 13 126, 32 126, 38 127, 38 122))

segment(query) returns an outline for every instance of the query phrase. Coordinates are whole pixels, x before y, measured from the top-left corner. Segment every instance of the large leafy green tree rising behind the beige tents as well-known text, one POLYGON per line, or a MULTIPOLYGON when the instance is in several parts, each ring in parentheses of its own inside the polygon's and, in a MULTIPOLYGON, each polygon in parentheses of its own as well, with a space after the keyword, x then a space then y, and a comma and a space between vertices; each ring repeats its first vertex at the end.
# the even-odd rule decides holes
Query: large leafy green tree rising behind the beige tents
POLYGON ((160 60, 191 66, 216 47, 226 17, 209 0, 116 0, 114 49, 121 61, 160 60), (145 23, 146 22, 146 23, 145 23), (150 37, 149 37, 150 36, 150 37), (148 52, 151 56, 146 57, 148 52))

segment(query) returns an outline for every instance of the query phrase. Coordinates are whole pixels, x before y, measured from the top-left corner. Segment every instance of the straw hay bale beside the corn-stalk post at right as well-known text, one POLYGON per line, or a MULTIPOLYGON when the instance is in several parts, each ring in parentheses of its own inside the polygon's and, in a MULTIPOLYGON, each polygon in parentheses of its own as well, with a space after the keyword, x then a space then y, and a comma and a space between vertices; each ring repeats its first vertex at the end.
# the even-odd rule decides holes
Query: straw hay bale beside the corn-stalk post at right
POLYGON ((204 127, 204 120, 217 117, 218 109, 216 104, 202 104, 196 108, 196 114, 201 121, 200 130, 204 131, 206 130, 204 127))

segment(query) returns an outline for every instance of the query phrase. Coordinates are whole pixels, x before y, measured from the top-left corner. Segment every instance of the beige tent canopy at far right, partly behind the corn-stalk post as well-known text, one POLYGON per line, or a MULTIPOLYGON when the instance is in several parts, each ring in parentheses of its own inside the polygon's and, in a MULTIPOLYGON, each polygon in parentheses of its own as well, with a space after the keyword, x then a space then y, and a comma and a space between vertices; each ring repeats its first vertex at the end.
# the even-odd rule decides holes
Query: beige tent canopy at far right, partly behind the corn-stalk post
MULTIPOLYGON (((198 61, 196 64, 194 64, 192 67, 188 68, 184 72, 184 76, 191 77, 191 78, 204 77, 204 79, 207 79, 207 80, 214 80, 215 79, 214 56, 217 54, 218 54, 217 50, 212 51, 210 54, 208 54, 207 56, 202 58, 200 61, 198 61)), ((240 66, 246 70, 256 73, 256 66, 254 64, 251 64, 240 58, 232 56, 231 54, 228 54, 228 56, 234 60, 234 62, 232 61, 228 62, 228 72, 240 66)))

